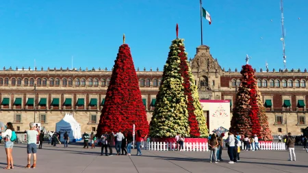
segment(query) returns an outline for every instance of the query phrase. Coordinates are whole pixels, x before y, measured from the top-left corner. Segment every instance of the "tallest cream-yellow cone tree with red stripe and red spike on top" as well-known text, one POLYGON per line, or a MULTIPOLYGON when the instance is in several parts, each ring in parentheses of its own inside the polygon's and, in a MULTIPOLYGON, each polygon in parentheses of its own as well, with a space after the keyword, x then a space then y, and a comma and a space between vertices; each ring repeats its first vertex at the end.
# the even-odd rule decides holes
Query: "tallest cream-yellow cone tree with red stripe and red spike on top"
POLYGON ((173 40, 150 124, 150 135, 153 137, 174 137, 177 133, 190 137, 208 135, 188 64, 183 39, 173 40))

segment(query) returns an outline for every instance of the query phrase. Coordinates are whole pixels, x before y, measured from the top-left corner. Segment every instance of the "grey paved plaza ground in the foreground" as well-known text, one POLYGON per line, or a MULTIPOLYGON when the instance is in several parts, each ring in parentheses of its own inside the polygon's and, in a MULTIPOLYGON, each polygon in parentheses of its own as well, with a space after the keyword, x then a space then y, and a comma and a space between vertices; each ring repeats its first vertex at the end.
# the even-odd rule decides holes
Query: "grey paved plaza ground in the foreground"
MULTIPOLYGON (((5 168, 6 156, 0 145, 0 169, 5 168)), ((114 150, 115 151, 115 150, 114 150)), ((132 150, 136 154, 136 150, 132 150)), ((227 163, 227 150, 223 150, 220 163, 209 163, 209 152, 177 152, 142 150, 142 156, 100 156, 100 148, 84 149, 81 144, 56 147, 43 144, 38 150, 36 169, 25 169, 27 153, 25 144, 15 144, 14 170, 0 172, 307 172, 308 153, 296 148, 296 161, 287 161, 284 150, 242 151, 240 163, 227 163)))

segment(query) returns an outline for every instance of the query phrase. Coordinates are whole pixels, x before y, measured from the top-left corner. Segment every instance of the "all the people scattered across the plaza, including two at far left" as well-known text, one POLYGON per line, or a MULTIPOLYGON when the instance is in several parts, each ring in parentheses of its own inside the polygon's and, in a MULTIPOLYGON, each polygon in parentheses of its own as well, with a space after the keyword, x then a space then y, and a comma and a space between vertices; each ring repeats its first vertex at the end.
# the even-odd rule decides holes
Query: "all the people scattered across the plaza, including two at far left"
MULTIPOLYGON (((12 149, 14 146, 14 142, 16 141, 16 133, 14 131, 13 124, 8 122, 5 126, 5 131, 1 129, 0 137, 5 141, 5 152, 7 154, 7 163, 8 166, 5 169, 10 170, 14 169, 14 159, 12 157, 12 149)), ((42 142, 44 139, 44 133, 39 131, 36 127, 35 123, 29 124, 29 130, 27 133, 27 165, 25 168, 36 168, 36 152, 37 152, 37 136, 39 136, 39 144, 38 148, 42 149, 42 142), (31 156, 33 155, 33 165, 31 165, 31 156)), ((61 133, 60 132, 51 132, 47 133, 49 137, 49 144, 52 146, 56 146, 57 143, 60 143, 61 133)), ((141 148, 142 142, 149 141, 146 135, 142 135, 140 130, 137 131, 136 135, 136 155, 142 155, 141 148)), ((91 148, 95 148, 95 146, 101 146, 101 155, 105 156, 113 156, 112 147, 116 148, 116 155, 131 155, 131 147, 133 144, 133 133, 131 131, 121 131, 118 130, 117 133, 111 131, 110 133, 104 133, 100 137, 97 137, 92 132, 90 135, 88 133, 84 133, 82 135, 84 139, 84 148, 89 148, 89 144, 91 148), (109 154, 108 154, 109 149, 109 154), (121 154, 122 152, 122 154, 121 154)), ((220 135, 216 135, 213 133, 209 135, 208 138, 208 146, 210 149, 210 163, 218 163, 218 161, 222 160, 222 150, 224 147, 227 147, 227 153, 229 155, 229 163, 236 163, 240 161, 240 152, 241 150, 260 150, 259 148, 259 138, 257 135, 253 135, 248 137, 247 135, 234 135, 233 131, 229 131, 227 139, 224 138, 224 133, 220 135), (244 148, 242 148, 242 144, 244 148)), ((68 147, 68 142, 70 141, 68 137, 68 133, 65 132, 63 135, 64 139, 64 148, 68 147)), ((177 134, 175 136, 176 140, 176 148, 178 151, 183 150, 183 144, 185 142, 184 135, 177 134)), ((296 161, 295 155, 295 145, 296 145, 296 137, 293 137, 291 133, 288 133, 287 136, 281 137, 279 135, 279 142, 285 142, 287 146, 287 150, 289 150, 289 161, 296 161)), ((300 138, 303 142, 304 148, 308 152, 307 148, 307 137, 303 136, 300 138)))

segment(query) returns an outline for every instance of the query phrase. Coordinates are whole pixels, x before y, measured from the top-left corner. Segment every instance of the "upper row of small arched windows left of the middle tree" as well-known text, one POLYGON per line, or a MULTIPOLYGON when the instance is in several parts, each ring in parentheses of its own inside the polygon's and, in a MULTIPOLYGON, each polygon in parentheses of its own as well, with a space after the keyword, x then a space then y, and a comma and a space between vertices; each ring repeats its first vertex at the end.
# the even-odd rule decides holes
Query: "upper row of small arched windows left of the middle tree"
MULTIPOLYGON (((105 87, 108 86, 110 83, 110 78, 107 79, 101 79, 101 81, 99 81, 99 79, 95 78, 95 79, 88 79, 88 81, 86 81, 86 79, 82 78, 82 79, 75 79, 75 86, 99 86, 99 82, 101 82, 101 86, 105 87)), ((158 87, 160 86, 160 83, 162 82, 162 79, 153 79, 152 80, 152 85, 154 87, 158 87)), ((11 85, 18 85, 21 86, 22 85, 22 79, 21 78, 12 78, 11 80, 9 80, 8 77, 5 77, 4 80, 3 78, 0 78, 0 86, 2 85, 9 85, 9 83, 11 85)), ((151 86, 151 80, 150 79, 139 79, 139 83, 140 83, 140 87, 150 87, 151 86)), ((23 79, 23 85, 24 86, 34 86, 34 78, 25 78, 23 79)), ((47 85, 47 78, 38 78, 36 79, 36 85, 40 86, 46 86, 47 85)), ((59 78, 50 78, 49 79, 49 86, 58 86, 60 85, 60 79, 59 78)), ((73 86, 73 79, 71 78, 64 78, 62 79, 62 86, 66 87, 66 86, 73 86)))

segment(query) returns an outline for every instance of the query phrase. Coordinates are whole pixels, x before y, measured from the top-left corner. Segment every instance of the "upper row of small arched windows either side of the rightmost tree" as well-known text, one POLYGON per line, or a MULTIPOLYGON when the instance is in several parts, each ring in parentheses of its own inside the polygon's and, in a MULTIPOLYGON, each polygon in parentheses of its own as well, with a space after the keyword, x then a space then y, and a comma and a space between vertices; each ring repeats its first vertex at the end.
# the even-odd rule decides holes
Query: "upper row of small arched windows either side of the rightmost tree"
MULTIPOLYGON (((232 79, 232 87, 235 86, 240 86, 240 79, 235 80, 232 79)), ((267 88, 268 87, 268 80, 266 79, 257 79, 257 85, 259 88, 267 88)), ((298 80, 296 79, 295 81, 289 79, 289 80, 285 80, 283 79, 282 81, 280 81, 279 79, 270 79, 269 82, 270 87, 274 88, 274 87, 280 87, 282 85, 283 88, 287 88, 290 87, 292 88, 293 86, 295 86, 296 88, 305 88, 306 87, 306 81, 304 79, 298 80)))

